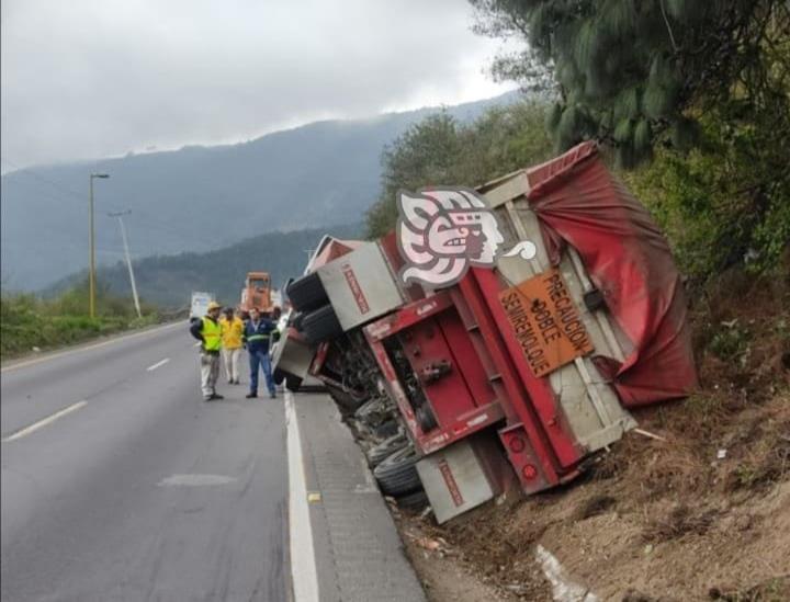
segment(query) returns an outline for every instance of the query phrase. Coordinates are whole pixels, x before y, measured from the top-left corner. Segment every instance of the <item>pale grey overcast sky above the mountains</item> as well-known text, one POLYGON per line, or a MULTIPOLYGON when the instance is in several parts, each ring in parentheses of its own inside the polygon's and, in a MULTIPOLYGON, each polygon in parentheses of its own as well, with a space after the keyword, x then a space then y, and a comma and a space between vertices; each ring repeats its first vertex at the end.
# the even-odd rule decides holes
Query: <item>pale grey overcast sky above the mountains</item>
POLYGON ((464 0, 2 0, 2 170, 489 98, 464 0))

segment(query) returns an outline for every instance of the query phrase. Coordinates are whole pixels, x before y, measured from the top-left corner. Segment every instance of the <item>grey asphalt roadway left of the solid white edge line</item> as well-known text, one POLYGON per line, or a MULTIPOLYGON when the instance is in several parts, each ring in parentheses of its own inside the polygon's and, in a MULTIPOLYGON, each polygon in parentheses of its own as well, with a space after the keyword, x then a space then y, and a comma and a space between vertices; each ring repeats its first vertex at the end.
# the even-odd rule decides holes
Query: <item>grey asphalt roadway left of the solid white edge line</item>
POLYGON ((287 600, 282 399, 218 388, 185 322, 3 368, 2 600, 287 600))

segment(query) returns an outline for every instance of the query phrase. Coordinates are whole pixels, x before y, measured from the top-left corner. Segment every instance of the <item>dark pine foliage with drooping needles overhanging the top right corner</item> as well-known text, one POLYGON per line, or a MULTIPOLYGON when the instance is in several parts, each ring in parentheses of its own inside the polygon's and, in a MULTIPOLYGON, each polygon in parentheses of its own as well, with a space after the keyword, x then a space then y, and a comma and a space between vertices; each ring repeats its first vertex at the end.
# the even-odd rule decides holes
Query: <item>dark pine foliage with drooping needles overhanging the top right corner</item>
POLYGON ((693 146, 699 116, 722 104, 770 114, 790 133, 783 0, 470 1, 478 32, 528 48, 495 63, 500 77, 554 75, 548 125, 558 149, 596 138, 632 167, 656 143, 693 146))

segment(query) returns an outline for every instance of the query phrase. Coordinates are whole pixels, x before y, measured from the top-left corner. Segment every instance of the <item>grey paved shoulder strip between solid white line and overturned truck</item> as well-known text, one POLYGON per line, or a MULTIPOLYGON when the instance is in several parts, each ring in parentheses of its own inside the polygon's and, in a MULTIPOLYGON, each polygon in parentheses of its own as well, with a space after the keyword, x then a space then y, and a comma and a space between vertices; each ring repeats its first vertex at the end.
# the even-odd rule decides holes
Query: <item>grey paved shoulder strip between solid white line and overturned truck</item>
POLYGON ((325 393, 300 394, 296 404, 307 487, 320 495, 309 511, 321 600, 425 602, 387 503, 337 406, 325 393))

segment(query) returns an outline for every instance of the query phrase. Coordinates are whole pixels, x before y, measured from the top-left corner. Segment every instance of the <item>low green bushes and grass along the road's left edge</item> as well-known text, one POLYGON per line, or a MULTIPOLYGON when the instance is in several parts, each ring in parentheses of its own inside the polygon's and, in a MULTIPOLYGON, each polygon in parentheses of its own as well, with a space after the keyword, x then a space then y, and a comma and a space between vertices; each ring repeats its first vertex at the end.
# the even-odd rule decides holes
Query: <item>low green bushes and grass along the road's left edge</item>
POLYGON ((3 294, 0 298, 0 356, 3 360, 37 350, 74 344, 104 334, 156 323, 156 308, 142 304, 138 318, 131 299, 97 292, 97 317, 88 316, 88 284, 52 298, 3 294))

